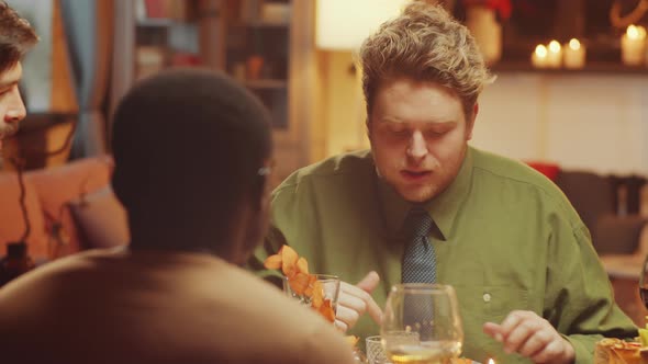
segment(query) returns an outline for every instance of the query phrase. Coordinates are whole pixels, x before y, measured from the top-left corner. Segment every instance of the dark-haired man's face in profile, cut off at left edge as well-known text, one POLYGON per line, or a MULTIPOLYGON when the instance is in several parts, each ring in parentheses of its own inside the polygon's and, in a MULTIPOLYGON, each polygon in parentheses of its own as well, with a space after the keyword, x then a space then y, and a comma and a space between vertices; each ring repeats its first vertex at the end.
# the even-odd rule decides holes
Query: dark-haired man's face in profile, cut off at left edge
POLYGON ((2 140, 15 134, 25 117, 18 82, 22 77, 21 60, 38 37, 30 23, 4 1, 0 1, 0 151, 2 140))

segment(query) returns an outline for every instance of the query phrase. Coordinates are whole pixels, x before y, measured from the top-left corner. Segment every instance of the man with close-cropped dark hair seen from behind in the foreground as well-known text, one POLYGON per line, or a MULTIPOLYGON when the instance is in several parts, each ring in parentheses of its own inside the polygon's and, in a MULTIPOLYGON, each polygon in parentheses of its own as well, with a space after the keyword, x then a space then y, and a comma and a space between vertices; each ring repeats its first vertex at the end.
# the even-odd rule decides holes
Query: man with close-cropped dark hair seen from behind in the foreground
POLYGON ((126 250, 48 263, 0 291, 10 363, 351 363, 333 325, 237 265, 268 224, 267 111, 221 73, 142 81, 114 116, 126 250))

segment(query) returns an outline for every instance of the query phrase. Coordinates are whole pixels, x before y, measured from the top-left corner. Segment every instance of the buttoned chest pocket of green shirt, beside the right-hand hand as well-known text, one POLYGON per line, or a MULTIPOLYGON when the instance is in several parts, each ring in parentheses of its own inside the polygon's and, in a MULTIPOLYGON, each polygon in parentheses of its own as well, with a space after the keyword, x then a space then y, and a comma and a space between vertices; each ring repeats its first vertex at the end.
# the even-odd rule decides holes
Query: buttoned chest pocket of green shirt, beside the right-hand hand
POLYGON ((489 357, 504 362, 528 362, 518 355, 507 355, 502 344, 483 333, 485 322, 501 323, 513 310, 528 310, 528 291, 496 285, 455 285, 459 314, 463 322, 463 355, 481 363, 489 357))

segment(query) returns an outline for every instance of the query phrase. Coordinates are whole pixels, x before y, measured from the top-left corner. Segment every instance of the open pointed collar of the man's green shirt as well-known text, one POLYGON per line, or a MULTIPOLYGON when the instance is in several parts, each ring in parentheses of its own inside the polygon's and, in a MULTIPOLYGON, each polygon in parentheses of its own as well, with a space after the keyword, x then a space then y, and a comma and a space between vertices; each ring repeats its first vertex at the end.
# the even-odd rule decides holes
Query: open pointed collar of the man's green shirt
MULTIPOLYGON (((423 204, 438 228, 439 236, 435 238, 448 240, 453 225, 468 195, 472 180, 472 148, 468 147, 459 173, 448 187, 436 197, 423 204)), ((407 202, 389 185, 382 178, 378 178, 378 193, 382 201, 383 216, 387 228, 392 236, 399 236, 405 217, 415 204, 407 202)), ((433 236, 435 235, 433 229, 433 236)))

